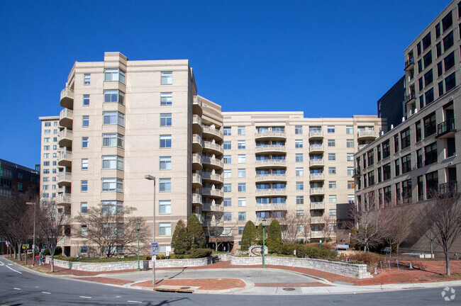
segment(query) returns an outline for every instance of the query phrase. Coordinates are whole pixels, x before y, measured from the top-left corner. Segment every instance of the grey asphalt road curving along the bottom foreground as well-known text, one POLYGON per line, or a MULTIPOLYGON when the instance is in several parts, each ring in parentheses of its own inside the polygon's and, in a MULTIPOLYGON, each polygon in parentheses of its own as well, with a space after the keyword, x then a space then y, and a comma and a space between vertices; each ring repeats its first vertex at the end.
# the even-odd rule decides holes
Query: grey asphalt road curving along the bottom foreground
POLYGON ((42 276, 0 259, 0 305, 461 305, 441 288, 348 295, 212 295, 157 293, 42 276))

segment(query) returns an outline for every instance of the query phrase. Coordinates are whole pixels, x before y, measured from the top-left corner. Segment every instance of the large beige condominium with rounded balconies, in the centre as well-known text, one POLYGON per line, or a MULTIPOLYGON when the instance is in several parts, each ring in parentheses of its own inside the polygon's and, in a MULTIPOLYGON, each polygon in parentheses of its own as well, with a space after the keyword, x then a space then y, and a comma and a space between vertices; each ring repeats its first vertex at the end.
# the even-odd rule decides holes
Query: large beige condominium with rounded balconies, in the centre
MULTIPOLYGON (((118 52, 75 62, 60 105, 60 188, 49 196, 72 216, 99 203, 135 207, 151 231, 154 184, 145 175, 154 176, 160 251, 192 213, 227 249, 247 220, 291 209, 314 222, 324 212, 335 217, 336 205, 354 198, 353 154, 382 129, 377 116, 223 113, 197 96, 187 60, 128 61, 118 52)), ((90 251, 78 238, 85 227, 67 231, 65 254, 90 251)))

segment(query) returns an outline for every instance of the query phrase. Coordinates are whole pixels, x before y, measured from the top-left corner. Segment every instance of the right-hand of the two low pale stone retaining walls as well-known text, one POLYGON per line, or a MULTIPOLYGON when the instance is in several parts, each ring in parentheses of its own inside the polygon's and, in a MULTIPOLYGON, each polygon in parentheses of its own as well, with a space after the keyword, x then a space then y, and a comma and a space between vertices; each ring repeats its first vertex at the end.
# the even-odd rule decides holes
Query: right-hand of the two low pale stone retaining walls
MULTIPOLYGON (((234 257, 230 260, 233 265, 250 266, 262 264, 262 257, 234 257)), ((357 263, 343 263, 340 261, 326 261, 323 259, 301 259, 295 257, 265 258, 265 264, 274 266, 292 266, 299 268, 312 268, 320 271, 340 274, 352 278, 372 278, 367 272, 367 265, 357 263)))

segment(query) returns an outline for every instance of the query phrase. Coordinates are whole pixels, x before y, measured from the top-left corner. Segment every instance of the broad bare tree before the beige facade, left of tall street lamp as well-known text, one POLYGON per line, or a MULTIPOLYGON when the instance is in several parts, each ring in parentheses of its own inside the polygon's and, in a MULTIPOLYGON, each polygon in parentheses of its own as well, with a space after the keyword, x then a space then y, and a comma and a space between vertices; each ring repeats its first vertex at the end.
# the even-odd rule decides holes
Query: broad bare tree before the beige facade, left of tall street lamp
POLYGON ((99 204, 75 217, 78 223, 74 231, 77 237, 97 246, 99 256, 114 254, 136 254, 139 224, 139 239, 143 250, 147 247, 148 230, 142 217, 131 216, 132 207, 99 204))

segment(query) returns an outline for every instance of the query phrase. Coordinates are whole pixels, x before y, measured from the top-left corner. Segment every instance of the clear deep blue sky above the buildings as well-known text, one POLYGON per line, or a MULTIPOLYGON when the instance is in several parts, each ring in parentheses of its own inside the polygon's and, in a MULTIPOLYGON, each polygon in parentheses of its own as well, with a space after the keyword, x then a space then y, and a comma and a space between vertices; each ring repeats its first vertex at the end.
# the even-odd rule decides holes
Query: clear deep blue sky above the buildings
POLYGON ((75 61, 189 59, 223 111, 376 115, 404 49, 448 0, 0 1, 0 158, 40 162, 75 61))

